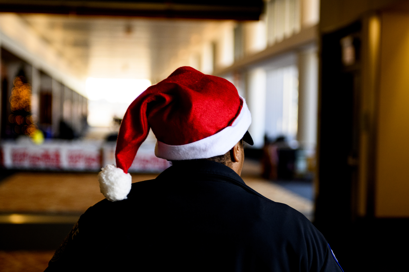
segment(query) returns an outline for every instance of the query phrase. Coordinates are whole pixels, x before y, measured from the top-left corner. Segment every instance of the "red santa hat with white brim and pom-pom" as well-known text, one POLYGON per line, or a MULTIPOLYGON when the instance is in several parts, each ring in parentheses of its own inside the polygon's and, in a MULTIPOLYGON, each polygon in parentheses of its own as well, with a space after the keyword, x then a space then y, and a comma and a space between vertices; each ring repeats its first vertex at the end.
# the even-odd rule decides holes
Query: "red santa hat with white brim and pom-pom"
POLYGON ((101 193, 110 201, 126 199, 132 183, 128 169, 150 128, 157 138, 155 155, 180 161, 225 154, 243 136, 252 144, 250 123, 233 84, 180 67, 128 107, 118 134, 117 167, 107 165, 98 175, 101 193))

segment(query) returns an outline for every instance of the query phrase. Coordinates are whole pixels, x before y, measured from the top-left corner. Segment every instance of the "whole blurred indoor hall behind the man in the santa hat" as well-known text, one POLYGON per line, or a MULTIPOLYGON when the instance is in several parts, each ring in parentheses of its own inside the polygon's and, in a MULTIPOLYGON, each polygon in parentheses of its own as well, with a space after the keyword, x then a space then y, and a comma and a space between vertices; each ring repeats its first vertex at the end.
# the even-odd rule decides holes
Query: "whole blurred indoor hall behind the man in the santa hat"
MULTIPOLYGON (((246 184, 302 212, 344 271, 403 264, 408 1, 0 0, 0 47, 0 272, 47 267, 103 199, 127 107, 180 66, 246 99, 246 184)), ((169 167, 155 141, 133 182, 169 167)))

